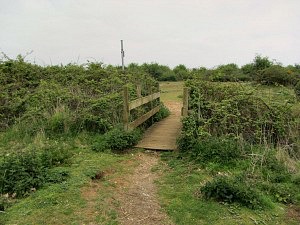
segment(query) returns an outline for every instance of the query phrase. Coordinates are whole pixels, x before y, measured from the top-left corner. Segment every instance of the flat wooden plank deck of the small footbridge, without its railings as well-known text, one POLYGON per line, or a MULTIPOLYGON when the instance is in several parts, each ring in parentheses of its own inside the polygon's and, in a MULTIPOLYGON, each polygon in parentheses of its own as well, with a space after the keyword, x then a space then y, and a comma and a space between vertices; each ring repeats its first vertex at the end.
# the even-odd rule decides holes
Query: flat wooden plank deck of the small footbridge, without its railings
POLYGON ((181 104, 177 102, 165 103, 171 115, 153 124, 144 134, 143 139, 135 146, 137 148, 153 150, 176 150, 176 139, 180 134, 181 104))

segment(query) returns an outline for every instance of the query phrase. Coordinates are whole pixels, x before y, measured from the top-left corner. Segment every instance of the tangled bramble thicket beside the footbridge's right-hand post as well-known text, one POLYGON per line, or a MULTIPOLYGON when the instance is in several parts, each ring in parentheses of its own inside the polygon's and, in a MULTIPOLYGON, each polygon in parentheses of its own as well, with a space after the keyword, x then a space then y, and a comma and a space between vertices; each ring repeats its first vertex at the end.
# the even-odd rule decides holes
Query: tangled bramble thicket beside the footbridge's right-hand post
MULTIPOLYGON (((184 136, 241 136, 250 143, 286 143, 295 129, 292 111, 282 103, 267 104, 239 84, 191 80, 189 109, 184 136)), ((184 122, 185 123, 185 122, 184 122)))

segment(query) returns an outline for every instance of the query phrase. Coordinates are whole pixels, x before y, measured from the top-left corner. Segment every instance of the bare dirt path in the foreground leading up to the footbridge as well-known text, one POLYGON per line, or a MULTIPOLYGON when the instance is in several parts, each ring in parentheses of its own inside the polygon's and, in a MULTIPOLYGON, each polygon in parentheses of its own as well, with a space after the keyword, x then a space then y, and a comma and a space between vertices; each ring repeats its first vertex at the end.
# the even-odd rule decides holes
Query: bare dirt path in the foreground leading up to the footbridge
POLYGON ((139 165, 135 171, 125 178, 123 185, 115 196, 118 200, 119 221, 125 225, 141 224, 173 224, 162 211, 157 199, 154 181, 158 174, 152 168, 158 163, 159 156, 155 152, 138 153, 139 165))

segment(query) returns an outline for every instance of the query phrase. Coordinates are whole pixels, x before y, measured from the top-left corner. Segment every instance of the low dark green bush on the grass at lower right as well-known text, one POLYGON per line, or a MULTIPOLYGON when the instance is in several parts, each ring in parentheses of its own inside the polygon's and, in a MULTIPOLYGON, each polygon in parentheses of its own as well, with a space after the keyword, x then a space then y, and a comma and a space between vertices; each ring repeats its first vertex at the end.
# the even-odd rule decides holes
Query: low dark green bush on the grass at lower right
POLYGON ((243 180, 236 180, 230 177, 218 176, 207 182, 200 188, 205 199, 216 201, 239 203, 251 209, 262 208, 266 202, 260 193, 243 180))

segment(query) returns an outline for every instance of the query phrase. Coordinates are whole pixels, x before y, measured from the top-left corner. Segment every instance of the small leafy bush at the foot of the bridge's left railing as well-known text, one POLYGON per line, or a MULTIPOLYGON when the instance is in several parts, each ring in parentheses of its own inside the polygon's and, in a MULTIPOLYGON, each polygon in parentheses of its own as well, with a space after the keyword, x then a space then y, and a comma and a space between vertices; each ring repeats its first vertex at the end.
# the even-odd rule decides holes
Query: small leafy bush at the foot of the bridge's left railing
POLYGON ((104 135, 96 137, 92 149, 97 152, 126 150, 135 145, 140 138, 141 131, 138 129, 125 131, 122 128, 116 127, 104 135))

